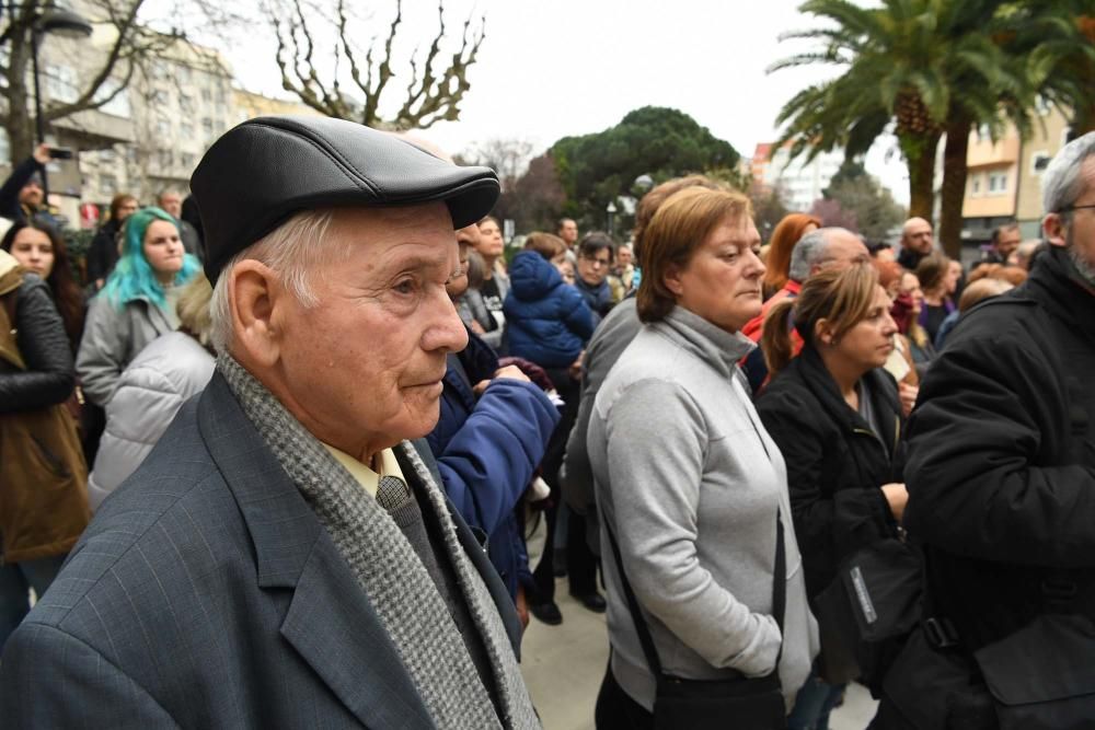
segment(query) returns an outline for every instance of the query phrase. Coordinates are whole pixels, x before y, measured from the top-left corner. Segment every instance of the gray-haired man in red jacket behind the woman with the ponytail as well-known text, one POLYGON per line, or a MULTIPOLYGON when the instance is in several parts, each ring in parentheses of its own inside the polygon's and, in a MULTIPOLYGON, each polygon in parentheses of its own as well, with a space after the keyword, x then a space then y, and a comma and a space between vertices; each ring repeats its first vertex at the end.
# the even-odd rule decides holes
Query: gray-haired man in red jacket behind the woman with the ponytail
MULTIPOLYGON (((760 343, 764 334, 764 317, 772 305, 782 299, 794 298, 802 291, 803 283, 826 268, 844 269, 856 264, 871 263, 871 253, 863 240, 844 228, 819 228, 810 231, 795 244, 791 251, 791 265, 787 269, 787 283, 783 289, 772 294, 772 297, 761 306, 760 314, 749 321, 741 328, 744 334, 754 343, 760 343)), ((792 333, 794 355, 803 347, 803 340, 797 333, 792 333)), ((753 394, 768 380, 768 364, 764 362, 764 354, 758 347, 746 358, 741 368, 753 394)))

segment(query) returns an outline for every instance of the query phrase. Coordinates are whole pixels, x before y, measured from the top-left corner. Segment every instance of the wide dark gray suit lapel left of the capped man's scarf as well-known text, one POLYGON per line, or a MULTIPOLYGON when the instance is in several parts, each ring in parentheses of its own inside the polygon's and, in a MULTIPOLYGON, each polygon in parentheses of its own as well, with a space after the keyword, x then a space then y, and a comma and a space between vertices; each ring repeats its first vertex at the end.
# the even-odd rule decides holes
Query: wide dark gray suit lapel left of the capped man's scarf
POLYGON ((433 728, 365 591, 219 372, 198 427, 251 533, 258 587, 293 590, 281 636, 364 725, 433 728))

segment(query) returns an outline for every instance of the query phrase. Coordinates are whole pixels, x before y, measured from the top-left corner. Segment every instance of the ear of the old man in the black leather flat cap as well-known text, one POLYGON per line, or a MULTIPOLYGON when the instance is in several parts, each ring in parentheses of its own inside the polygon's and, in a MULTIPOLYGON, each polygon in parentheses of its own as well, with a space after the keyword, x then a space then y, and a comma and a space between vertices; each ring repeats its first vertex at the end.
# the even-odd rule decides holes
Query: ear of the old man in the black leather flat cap
POLYGON ((232 346, 255 364, 272 367, 280 356, 279 314, 288 294, 265 264, 246 258, 226 273, 232 346))

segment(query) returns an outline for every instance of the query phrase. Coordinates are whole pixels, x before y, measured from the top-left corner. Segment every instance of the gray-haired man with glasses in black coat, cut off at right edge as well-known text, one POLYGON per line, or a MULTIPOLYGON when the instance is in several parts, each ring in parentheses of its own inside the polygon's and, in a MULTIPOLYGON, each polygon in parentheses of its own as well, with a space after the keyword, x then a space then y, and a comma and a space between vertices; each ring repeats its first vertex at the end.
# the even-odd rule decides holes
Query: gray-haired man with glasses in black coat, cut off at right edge
POLYGON ((925 628, 886 682, 911 728, 1095 718, 1095 132, 1042 174, 1048 251, 971 310, 909 422, 909 534, 925 628))

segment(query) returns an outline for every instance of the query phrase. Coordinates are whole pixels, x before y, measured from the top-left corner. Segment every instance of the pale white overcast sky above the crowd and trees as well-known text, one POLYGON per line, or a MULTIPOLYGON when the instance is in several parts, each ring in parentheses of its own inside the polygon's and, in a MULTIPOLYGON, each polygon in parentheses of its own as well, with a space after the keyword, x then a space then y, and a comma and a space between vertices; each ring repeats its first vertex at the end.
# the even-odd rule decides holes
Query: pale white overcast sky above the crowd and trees
MULTIPOLYGON (((779 40, 782 32, 817 25, 797 11, 799 1, 445 0, 453 36, 474 13, 486 16, 486 39, 469 71, 472 85, 460 121, 422 135, 450 152, 498 137, 528 140, 539 152, 561 137, 600 131, 634 108, 656 105, 685 112, 751 157, 758 142, 775 139, 783 103, 826 73, 765 73, 796 47, 808 47, 779 40)), ((404 5, 397 58, 413 45, 425 47, 436 32, 434 2, 404 5)), ((387 30, 394 12, 393 1, 368 7, 360 11, 366 19, 372 13, 371 23, 358 26, 362 45, 387 30)), ((261 30, 256 22, 221 50, 244 88, 285 96, 273 38, 261 30)), ((867 166, 903 202, 907 171, 899 155, 887 155, 892 147, 892 139, 877 143, 867 166)))

